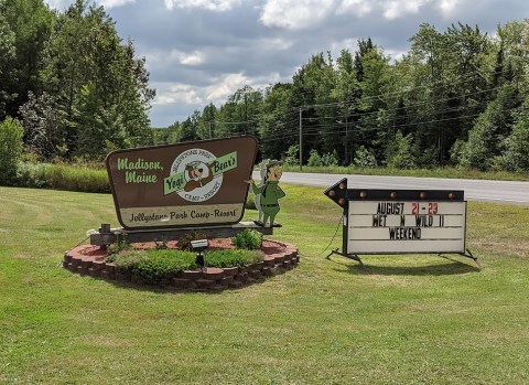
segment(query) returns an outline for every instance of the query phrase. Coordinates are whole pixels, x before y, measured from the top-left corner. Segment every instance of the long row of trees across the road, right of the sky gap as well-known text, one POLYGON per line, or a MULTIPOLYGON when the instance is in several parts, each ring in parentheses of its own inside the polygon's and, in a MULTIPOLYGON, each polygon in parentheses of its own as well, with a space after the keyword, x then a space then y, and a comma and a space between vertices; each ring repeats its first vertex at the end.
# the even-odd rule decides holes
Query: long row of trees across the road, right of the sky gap
POLYGON ((397 60, 371 39, 315 54, 292 82, 245 86, 155 141, 248 133, 261 157, 295 162, 301 136, 303 163, 529 170, 529 21, 422 24, 409 41, 397 60))

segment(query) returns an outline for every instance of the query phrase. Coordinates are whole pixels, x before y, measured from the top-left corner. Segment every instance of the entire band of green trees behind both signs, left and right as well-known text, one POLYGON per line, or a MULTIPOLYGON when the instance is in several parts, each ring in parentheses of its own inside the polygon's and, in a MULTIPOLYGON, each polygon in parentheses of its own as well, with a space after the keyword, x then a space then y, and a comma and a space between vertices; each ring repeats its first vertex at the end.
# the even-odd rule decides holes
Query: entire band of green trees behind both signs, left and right
POLYGON ((0 122, 20 125, 42 161, 246 133, 259 157, 291 163, 302 151, 312 164, 529 170, 529 21, 495 34, 422 24, 409 41, 399 58, 371 39, 314 54, 291 82, 245 86, 152 129, 145 60, 102 7, 0 0, 0 122))

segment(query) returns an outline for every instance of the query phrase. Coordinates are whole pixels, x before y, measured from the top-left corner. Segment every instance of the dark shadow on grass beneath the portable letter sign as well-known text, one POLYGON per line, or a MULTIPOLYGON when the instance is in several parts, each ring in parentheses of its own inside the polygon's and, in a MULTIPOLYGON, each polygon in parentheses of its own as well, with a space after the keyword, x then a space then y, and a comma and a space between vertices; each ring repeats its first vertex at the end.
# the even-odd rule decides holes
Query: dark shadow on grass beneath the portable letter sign
POLYGON ((355 275, 379 275, 379 276, 451 276, 469 272, 479 272, 477 266, 462 263, 449 257, 440 257, 446 260, 445 264, 432 264, 422 266, 373 266, 369 260, 363 260, 364 265, 345 263, 343 257, 331 257, 328 260, 335 264, 347 266, 347 270, 355 275), (339 258, 339 259, 338 259, 339 258), (342 259, 342 260, 341 260, 342 259))

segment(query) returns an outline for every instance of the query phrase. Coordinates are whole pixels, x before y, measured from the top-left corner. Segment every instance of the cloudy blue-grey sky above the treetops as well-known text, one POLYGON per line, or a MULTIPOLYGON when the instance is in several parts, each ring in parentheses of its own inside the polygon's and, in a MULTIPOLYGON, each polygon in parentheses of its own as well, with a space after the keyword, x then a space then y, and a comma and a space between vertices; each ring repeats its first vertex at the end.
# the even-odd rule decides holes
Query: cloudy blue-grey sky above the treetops
MULTIPOLYGON (((60 11, 73 0, 45 0, 60 11)), ((264 89, 292 76, 313 54, 371 38, 399 58, 422 23, 498 24, 529 18, 527 0, 96 0, 145 57, 156 97, 152 127, 183 121, 195 109, 225 104, 246 85, 264 89)))

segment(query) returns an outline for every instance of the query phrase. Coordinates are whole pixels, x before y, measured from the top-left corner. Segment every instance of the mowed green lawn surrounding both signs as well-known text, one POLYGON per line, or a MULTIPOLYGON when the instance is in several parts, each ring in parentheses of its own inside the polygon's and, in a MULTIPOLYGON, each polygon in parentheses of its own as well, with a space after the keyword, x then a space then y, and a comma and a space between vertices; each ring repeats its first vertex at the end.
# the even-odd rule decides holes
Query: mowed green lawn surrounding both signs
MULTIPOLYGON (((283 185, 273 238, 301 263, 220 293, 60 267, 112 199, 0 188, 1 384, 527 384, 529 207, 468 204, 460 256, 333 256, 341 210, 283 185)), ((247 216, 256 216, 247 212, 247 216)))

